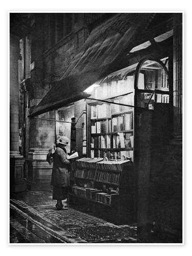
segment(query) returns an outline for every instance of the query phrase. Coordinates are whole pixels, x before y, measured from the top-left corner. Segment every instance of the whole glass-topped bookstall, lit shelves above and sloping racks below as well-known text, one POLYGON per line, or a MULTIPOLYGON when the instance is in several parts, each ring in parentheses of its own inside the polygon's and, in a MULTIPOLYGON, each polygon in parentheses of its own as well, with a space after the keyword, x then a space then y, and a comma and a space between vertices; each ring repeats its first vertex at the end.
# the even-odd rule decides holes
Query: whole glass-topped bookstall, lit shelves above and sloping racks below
POLYGON ((71 195, 107 221, 133 223, 139 200, 148 200, 143 189, 172 127, 167 61, 142 60, 114 72, 93 84, 86 101, 89 158, 76 161, 71 195))

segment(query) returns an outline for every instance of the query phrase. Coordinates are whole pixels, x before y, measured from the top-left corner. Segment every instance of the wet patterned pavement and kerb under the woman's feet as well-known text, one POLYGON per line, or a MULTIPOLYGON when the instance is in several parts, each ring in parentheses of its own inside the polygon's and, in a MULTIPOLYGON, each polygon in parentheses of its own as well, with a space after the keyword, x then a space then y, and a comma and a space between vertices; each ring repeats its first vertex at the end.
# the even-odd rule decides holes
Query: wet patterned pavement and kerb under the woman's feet
POLYGON ((75 206, 56 210, 51 191, 15 194, 10 203, 10 243, 137 243, 135 225, 118 226, 75 206))

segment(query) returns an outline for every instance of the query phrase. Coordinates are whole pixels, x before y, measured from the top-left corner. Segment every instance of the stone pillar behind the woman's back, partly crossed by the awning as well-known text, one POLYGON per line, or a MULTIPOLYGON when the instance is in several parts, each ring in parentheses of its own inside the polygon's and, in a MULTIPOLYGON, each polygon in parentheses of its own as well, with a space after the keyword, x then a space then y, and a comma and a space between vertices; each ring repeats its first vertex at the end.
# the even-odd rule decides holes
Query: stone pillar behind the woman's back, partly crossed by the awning
MULTIPOLYGON (((31 70, 31 87, 33 98, 30 100, 30 111, 40 102, 49 90, 44 82, 44 15, 35 15, 31 34, 31 58, 34 68, 31 70)), ((48 112, 38 118, 54 119, 54 113, 48 112)), ((46 162, 46 156, 55 141, 55 122, 30 118, 30 148, 27 156, 29 189, 51 189, 52 165, 46 162)))

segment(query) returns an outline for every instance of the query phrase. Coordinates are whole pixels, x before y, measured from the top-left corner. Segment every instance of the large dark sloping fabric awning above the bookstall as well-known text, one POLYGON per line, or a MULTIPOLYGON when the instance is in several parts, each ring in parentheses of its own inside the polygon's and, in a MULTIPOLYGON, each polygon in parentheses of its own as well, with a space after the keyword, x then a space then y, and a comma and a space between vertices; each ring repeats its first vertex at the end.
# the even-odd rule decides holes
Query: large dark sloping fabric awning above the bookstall
POLYGON ((31 113, 36 116, 87 97, 91 84, 118 69, 121 57, 136 44, 154 13, 118 13, 95 28, 62 77, 31 113))

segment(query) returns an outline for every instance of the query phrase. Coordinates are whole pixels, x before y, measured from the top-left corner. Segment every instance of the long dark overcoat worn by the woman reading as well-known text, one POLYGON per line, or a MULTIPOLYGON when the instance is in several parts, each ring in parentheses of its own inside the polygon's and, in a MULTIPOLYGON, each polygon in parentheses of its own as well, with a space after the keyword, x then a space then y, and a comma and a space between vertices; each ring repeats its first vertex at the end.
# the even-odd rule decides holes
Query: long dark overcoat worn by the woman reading
POLYGON ((70 186, 69 163, 66 150, 56 147, 55 153, 53 154, 51 185, 58 187, 70 186))

